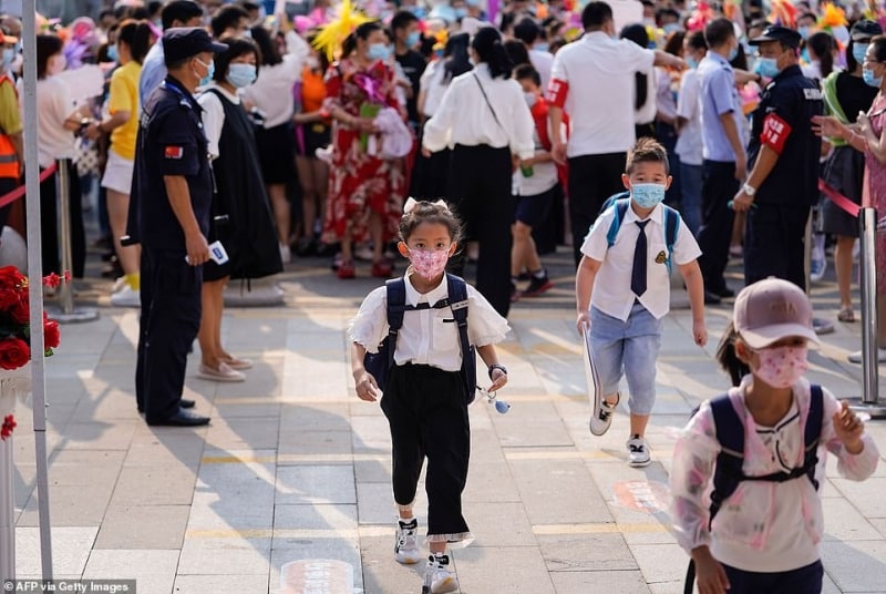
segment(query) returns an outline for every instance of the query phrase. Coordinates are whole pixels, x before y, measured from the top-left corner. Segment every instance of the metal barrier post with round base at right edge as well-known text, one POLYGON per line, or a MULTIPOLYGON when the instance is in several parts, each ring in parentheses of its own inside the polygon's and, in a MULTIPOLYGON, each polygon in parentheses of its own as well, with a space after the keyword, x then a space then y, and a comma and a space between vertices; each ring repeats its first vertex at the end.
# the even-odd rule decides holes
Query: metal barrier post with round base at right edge
MULTIPOLYGON (((877 365, 877 269, 875 263, 877 211, 862 208, 861 273, 862 273, 862 398, 849 398, 849 408, 866 412, 872 419, 886 418, 886 404, 878 398, 877 365)), ((886 311, 882 313, 886 315, 886 311)))

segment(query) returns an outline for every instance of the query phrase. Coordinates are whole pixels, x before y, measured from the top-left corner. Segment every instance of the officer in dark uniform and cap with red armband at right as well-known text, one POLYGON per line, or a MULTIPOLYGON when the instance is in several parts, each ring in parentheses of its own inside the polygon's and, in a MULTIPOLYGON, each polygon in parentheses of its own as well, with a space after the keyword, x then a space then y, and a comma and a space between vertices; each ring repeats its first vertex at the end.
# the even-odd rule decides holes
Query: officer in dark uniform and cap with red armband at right
POLYGON ((806 286, 804 237, 818 199, 821 139, 812 117, 823 110, 818 85, 797 64, 800 33, 780 25, 750 41, 760 47, 755 70, 772 79, 753 114, 749 163, 753 168, 732 201, 748 213, 744 283, 767 276, 806 286))

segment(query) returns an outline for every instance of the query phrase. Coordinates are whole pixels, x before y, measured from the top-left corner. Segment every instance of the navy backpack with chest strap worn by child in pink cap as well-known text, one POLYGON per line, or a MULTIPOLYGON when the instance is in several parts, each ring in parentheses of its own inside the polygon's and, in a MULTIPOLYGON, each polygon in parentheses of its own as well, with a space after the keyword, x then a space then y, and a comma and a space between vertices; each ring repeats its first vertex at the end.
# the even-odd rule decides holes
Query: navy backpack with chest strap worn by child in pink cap
MULTIPOLYGON (((803 429, 803 465, 790 472, 780 471, 761 477, 749 477, 742 471, 744 462, 744 421, 735 412, 735 407, 729 395, 721 395, 711 399, 713 424, 717 429, 717 441, 720 442, 720 453, 713 469, 713 491, 711 491, 711 506, 708 513, 708 530, 711 529, 713 516, 720 506, 729 499, 742 481, 770 481, 785 482, 801 477, 806 477, 812 487, 818 490, 815 480, 815 467, 818 465, 818 440, 822 436, 822 417, 824 416, 824 395, 822 387, 810 386, 810 412, 806 426, 803 429)), ((686 572, 686 594, 692 593, 692 583, 696 580, 696 564, 689 561, 686 572)))

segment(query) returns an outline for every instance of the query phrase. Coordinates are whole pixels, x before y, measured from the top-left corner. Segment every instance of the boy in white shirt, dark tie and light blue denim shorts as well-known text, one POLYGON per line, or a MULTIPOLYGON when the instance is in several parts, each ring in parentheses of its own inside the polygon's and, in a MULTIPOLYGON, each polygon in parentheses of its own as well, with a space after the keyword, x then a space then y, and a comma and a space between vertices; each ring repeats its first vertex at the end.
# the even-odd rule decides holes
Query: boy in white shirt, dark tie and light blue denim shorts
MULTIPOLYGON (((590 431, 609 430, 620 395, 618 385, 627 377, 630 399, 628 464, 650 462, 643 437, 656 401, 656 359, 661 346, 661 318, 670 309, 670 264, 680 270, 692 308, 692 338, 708 341, 704 327, 704 288, 692 233, 678 221, 673 245, 666 239, 666 213, 661 201, 671 184, 668 154, 651 139, 640 139, 628 152, 625 187, 630 205, 612 245, 608 235, 618 209, 600 213, 581 245, 584 257, 576 274, 576 325, 579 334, 590 332, 589 346, 600 376, 602 397, 591 411, 590 431)), ((677 213, 673 213, 678 216, 677 213)))

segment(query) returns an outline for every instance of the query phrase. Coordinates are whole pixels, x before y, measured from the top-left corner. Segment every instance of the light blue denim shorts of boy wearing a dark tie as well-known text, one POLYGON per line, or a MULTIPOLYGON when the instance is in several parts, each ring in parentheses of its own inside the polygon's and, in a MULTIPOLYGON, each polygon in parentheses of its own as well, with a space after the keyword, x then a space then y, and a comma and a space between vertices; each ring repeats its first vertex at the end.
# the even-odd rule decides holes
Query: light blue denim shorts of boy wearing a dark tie
POLYGON ((590 308, 590 348, 604 395, 616 393, 621 376, 628 379, 632 414, 649 414, 656 402, 656 359, 661 346, 661 320, 639 303, 621 321, 590 308))

